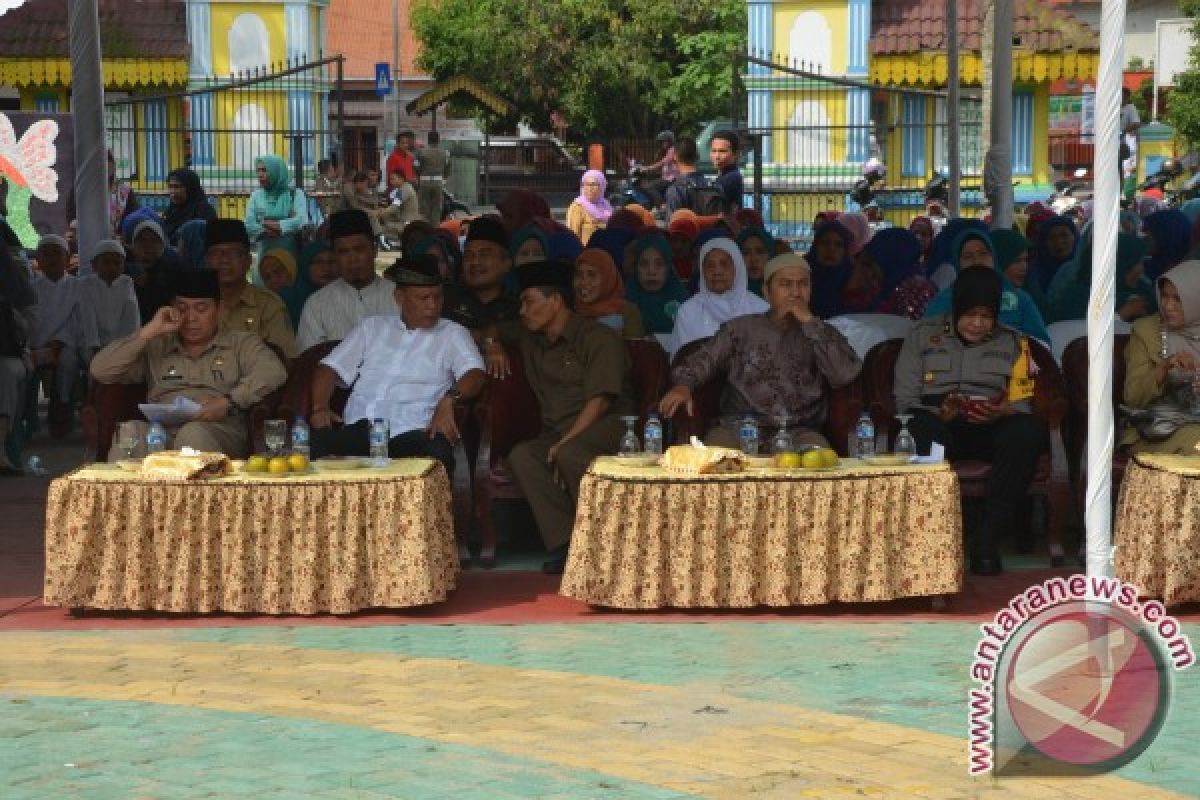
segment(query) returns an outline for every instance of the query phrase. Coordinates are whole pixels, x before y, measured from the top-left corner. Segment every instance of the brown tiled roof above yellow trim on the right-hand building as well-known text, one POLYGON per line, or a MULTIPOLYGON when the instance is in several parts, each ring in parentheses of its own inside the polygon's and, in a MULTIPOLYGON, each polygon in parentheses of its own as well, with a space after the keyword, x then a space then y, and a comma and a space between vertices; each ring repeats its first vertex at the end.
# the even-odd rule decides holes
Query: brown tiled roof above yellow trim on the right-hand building
MULTIPOLYGON (((1039 53, 1097 50, 1099 36, 1072 14, 1039 0, 1015 0, 1013 32, 1021 49, 1039 53)), ((979 52, 983 2, 959 0, 959 47, 979 52)), ((875 0, 871 54, 904 55, 946 49, 946 0, 875 0)))

